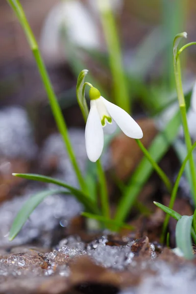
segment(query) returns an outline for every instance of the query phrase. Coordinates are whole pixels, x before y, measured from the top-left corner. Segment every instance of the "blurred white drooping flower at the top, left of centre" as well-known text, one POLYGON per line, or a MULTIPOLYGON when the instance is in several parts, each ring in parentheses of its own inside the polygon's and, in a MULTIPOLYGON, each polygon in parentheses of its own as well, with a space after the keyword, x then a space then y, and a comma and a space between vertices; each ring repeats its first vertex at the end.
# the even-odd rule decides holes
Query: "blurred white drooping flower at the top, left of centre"
POLYGON ((98 49, 98 27, 88 9, 79 0, 64 0, 55 5, 43 25, 40 48, 50 61, 64 56, 61 30, 66 28, 70 41, 78 47, 98 49))

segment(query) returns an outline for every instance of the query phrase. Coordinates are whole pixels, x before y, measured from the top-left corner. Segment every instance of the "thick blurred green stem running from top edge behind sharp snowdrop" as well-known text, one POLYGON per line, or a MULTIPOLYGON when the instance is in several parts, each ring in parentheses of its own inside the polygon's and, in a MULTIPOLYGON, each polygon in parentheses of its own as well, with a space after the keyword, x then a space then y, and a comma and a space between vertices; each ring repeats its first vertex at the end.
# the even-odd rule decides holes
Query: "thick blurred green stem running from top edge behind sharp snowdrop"
POLYGON ((105 41, 109 52, 110 68, 114 83, 114 97, 116 104, 130 113, 131 103, 123 71, 123 58, 118 38, 117 27, 111 9, 111 1, 97 0, 105 41))

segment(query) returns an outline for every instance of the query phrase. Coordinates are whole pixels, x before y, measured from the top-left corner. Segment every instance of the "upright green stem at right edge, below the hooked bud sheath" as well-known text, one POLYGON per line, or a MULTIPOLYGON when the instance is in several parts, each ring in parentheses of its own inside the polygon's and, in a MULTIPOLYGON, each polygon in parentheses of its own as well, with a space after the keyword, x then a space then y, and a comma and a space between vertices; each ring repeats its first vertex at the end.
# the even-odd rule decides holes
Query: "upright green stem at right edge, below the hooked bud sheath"
MULTIPOLYGON (((180 113, 181 113, 181 119, 182 119, 182 126, 184 130, 184 137, 185 137, 185 143, 187 147, 187 151, 190 152, 192 148, 192 142, 191 142, 191 136, 189 133, 188 123, 187 123, 187 115, 186 115, 186 104, 184 99, 184 93, 182 89, 182 79, 181 79, 181 71, 180 71, 180 60, 178 56, 173 56, 173 68, 174 68, 174 75, 175 75, 175 84, 176 84, 176 90, 177 90, 177 96, 180 106, 180 113)), ((193 199, 196 205, 196 168, 195 168, 195 162, 193 154, 191 154, 189 159, 189 166, 191 171, 191 177, 192 177, 192 185, 193 185, 193 199)))

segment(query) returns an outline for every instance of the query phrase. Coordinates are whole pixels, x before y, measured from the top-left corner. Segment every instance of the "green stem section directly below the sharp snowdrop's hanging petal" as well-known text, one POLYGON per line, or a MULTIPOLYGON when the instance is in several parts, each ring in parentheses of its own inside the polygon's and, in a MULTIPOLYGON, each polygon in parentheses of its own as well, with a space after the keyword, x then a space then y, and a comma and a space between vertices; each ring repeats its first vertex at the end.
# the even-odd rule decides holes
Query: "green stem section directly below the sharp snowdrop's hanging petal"
POLYGON ((100 184, 100 200, 101 200, 101 208, 102 214, 105 218, 110 218, 110 208, 109 208, 109 199, 107 193, 107 184, 105 179, 105 173, 103 172, 103 168, 101 166, 100 159, 97 161, 97 169, 98 169, 98 178, 100 184))

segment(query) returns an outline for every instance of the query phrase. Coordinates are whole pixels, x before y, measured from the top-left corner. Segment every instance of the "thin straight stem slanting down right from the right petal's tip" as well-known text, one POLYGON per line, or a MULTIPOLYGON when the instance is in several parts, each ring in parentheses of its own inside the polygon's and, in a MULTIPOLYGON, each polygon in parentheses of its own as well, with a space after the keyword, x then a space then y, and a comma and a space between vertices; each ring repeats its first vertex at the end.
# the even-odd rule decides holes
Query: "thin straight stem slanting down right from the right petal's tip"
POLYGON ((138 144, 138 146, 141 148, 142 152, 147 157, 148 161, 151 163, 151 165, 154 168, 154 170, 158 173, 159 177, 162 179, 162 181, 166 185, 168 191, 169 192, 172 192, 172 183, 171 183, 170 179, 168 178, 168 176, 165 174, 165 172, 163 172, 163 170, 154 161, 154 159, 151 157, 151 155, 149 154, 149 152, 147 151, 147 149, 144 147, 144 145, 142 144, 142 142, 139 139, 135 139, 135 141, 138 144))

